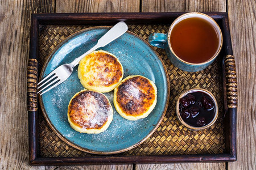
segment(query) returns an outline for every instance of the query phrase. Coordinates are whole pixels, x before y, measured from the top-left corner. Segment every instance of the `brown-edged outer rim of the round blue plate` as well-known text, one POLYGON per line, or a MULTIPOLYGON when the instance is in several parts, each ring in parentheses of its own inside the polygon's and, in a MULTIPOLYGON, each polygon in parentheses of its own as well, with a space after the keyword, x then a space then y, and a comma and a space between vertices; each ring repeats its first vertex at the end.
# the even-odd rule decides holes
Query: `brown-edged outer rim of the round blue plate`
MULTIPOLYGON (((89 27, 89 28, 85 28, 85 29, 81 29, 80 31, 74 32, 71 35, 65 37, 65 39, 63 41, 61 41, 57 46, 55 46, 55 48, 52 50, 51 54, 49 54, 47 56, 46 62, 44 62, 42 70, 40 70, 40 76, 39 76, 39 80, 42 79, 43 73, 44 71, 46 71, 46 66, 48 65, 49 61, 51 60, 51 58, 53 57, 53 54, 56 53, 56 51, 62 46, 64 45, 65 42, 67 42, 68 40, 72 39, 72 37, 75 37, 76 35, 81 34, 82 32, 86 32, 86 31, 90 31, 92 29, 110 29, 112 28, 111 26, 95 26, 95 27, 89 27)), ((79 145, 77 145, 76 143, 73 143, 72 141, 70 141, 69 139, 65 138, 63 136, 63 134, 60 133, 59 130, 57 130, 55 128, 55 126, 52 124, 51 120, 48 117, 48 114, 46 113, 46 109, 44 108, 44 104, 42 101, 42 96, 39 96, 39 103, 40 103, 40 107, 42 109, 43 112, 43 116, 45 118, 45 120, 47 121, 47 124, 49 125, 49 127, 55 132, 55 134, 57 135, 57 137, 59 137, 61 139, 61 141, 67 143, 69 146, 72 146, 80 151, 84 151, 87 152, 89 154, 97 154, 97 155, 110 155, 110 154, 118 154, 121 152, 125 152, 128 150, 131 150, 134 147, 137 147, 139 145, 141 145, 141 143, 143 143, 144 141, 146 141, 146 139, 148 139, 154 132, 156 129, 158 129, 159 125, 161 124, 161 122, 163 121, 163 118, 166 114, 167 108, 168 108, 168 104, 169 104, 169 99, 170 99, 170 80, 169 80, 169 76, 168 76, 168 72, 166 69, 166 66, 164 65, 162 59, 160 58, 159 54, 156 52, 156 50, 154 48, 152 48, 152 46, 144 39, 142 39, 142 37, 138 36, 137 34, 131 32, 131 31, 127 31, 126 33, 129 33, 130 35, 133 35, 135 37, 137 37, 138 39, 142 40, 147 46, 149 46, 153 52, 156 54, 156 56, 158 57, 158 59, 160 60, 160 62, 162 63, 163 66, 163 70, 164 70, 164 74, 166 75, 166 81, 167 81, 167 97, 166 97, 166 104, 164 105, 164 111, 162 112, 162 116, 160 117, 158 124, 155 125, 155 128, 153 128, 147 135, 146 137, 142 138, 141 141, 135 143, 134 145, 131 145, 129 147, 123 148, 122 150, 117 150, 117 151, 94 151, 94 150, 89 150, 88 148, 84 148, 81 147, 79 145)))

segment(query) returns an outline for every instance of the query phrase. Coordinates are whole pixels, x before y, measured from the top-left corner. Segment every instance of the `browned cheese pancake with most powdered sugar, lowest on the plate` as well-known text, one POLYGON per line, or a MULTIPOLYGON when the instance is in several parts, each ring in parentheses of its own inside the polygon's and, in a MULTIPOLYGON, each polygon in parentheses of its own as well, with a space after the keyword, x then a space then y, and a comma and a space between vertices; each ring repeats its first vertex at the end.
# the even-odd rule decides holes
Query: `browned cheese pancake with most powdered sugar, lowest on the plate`
POLYGON ((68 122, 81 133, 101 133, 113 120, 113 108, 108 98, 100 92, 82 90, 68 105, 68 122))

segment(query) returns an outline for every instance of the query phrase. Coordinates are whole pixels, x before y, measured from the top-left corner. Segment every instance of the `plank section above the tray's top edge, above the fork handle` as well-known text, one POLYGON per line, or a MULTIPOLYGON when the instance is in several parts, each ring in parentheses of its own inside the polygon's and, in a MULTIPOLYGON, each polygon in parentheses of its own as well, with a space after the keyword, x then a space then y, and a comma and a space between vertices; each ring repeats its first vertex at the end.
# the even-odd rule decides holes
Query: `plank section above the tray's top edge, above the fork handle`
POLYGON ((139 12, 139 0, 57 0, 56 13, 60 12, 139 12))

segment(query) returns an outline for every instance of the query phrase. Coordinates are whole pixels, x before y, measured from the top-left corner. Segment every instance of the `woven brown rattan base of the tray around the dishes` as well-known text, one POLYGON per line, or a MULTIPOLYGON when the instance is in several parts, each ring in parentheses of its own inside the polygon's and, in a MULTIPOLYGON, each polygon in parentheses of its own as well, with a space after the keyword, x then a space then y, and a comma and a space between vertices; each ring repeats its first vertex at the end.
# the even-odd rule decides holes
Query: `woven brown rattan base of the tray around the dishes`
MULTIPOLYGON (((39 33, 39 70, 42 69, 52 50, 67 36, 92 27, 93 25, 46 25, 40 28, 39 33)), ((129 31, 136 33, 147 40, 148 35, 153 32, 166 33, 168 25, 129 25, 129 31)), ((166 56, 163 49, 155 48, 167 68, 170 78, 170 102, 166 116, 159 128, 141 145, 123 152, 119 155, 191 155, 191 154, 222 154, 225 150, 225 136, 223 126, 223 84, 221 58, 217 57, 207 69, 188 73, 177 69, 166 56), (207 130, 190 131, 180 125, 175 113, 176 100, 181 92, 190 88, 205 88, 216 97, 219 107, 219 116, 216 123, 207 130)), ((40 109, 39 109, 40 110, 40 109)), ((39 111, 39 143, 40 156, 42 157, 72 157, 91 156, 67 145, 47 125, 46 120, 39 111)))

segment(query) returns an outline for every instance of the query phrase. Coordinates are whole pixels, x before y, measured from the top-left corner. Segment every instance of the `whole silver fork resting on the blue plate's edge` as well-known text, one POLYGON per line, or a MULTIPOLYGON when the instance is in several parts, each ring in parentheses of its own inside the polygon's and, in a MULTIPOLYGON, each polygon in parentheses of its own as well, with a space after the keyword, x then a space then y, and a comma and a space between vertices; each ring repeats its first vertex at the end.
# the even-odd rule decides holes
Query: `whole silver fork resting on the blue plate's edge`
POLYGON ((43 95, 47 91, 51 90, 52 88, 58 86, 60 83, 64 82, 73 71, 73 68, 78 65, 79 61, 84 58, 86 55, 92 53, 97 48, 103 47, 113 40, 117 39, 119 36, 123 35, 128 30, 127 25, 125 22, 119 22, 114 25, 108 32, 105 33, 104 36, 102 36, 97 44, 93 46, 88 52, 82 54, 80 57, 77 57, 74 61, 71 63, 65 63, 64 65, 61 65, 57 67, 57 69, 53 70, 50 74, 48 74, 44 79, 42 79, 38 83, 38 90, 39 88, 42 88, 40 91, 38 91, 38 94, 43 95), (48 83, 48 84, 47 84, 48 83), (51 87, 49 87, 51 86, 51 87), (49 88, 48 88, 49 87, 49 88), (45 90, 45 91, 43 91, 45 90), (43 92, 42 92, 43 91, 43 92))

